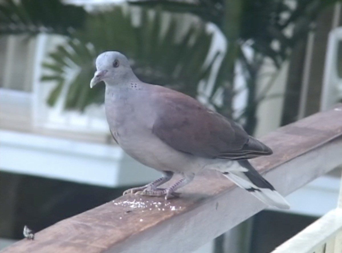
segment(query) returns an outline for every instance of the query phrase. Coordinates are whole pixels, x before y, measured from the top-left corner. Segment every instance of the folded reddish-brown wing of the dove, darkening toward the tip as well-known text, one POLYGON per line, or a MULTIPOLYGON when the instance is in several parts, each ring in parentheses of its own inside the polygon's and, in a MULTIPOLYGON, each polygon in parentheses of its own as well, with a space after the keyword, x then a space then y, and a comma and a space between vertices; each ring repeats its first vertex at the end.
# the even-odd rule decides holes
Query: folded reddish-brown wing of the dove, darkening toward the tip
POLYGON ((153 133, 178 151, 221 159, 249 159, 272 153, 240 125, 187 95, 160 88, 157 104, 160 113, 153 133))

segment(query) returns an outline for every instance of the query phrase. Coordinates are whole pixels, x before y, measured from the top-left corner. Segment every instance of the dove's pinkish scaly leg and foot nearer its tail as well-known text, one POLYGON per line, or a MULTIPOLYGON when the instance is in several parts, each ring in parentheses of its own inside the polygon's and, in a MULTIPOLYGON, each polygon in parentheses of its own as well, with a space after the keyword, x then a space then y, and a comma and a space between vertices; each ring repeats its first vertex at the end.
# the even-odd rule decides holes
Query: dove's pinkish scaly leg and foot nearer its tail
POLYGON ((173 185, 171 185, 167 189, 145 189, 143 192, 140 194, 142 195, 147 195, 147 196, 163 196, 165 195, 165 199, 169 199, 172 197, 178 197, 179 193, 176 193, 175 191, 188 183, 190 183, 194 179, 195 174, 186 174, 184 175, 184 178, 180 179, 173 185))

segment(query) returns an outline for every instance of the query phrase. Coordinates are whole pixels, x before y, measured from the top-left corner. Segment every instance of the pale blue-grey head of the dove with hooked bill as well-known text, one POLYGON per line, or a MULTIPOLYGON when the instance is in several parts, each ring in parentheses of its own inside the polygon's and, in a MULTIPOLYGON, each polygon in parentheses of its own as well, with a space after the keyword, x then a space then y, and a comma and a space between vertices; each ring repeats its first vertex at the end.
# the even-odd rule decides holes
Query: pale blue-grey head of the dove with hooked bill
POLYGON ((119 52, 107 51, 96 58, 96 72, 90 81, 90 87, 101 81, 104 81, 106 86, 113 86, 136 79, 126 56, 119 52))

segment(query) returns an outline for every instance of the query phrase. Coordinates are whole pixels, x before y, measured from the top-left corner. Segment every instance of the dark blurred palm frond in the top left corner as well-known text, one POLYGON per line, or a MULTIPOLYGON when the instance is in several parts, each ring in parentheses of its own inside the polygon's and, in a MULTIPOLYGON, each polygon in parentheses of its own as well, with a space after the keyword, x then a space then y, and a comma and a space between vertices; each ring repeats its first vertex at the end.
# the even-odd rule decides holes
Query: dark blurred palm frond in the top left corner
POLYGON ((59 0, 6 0, 0 2, 0 35, 54 33, 68 35, 82 27, 86 11, 59 0))

